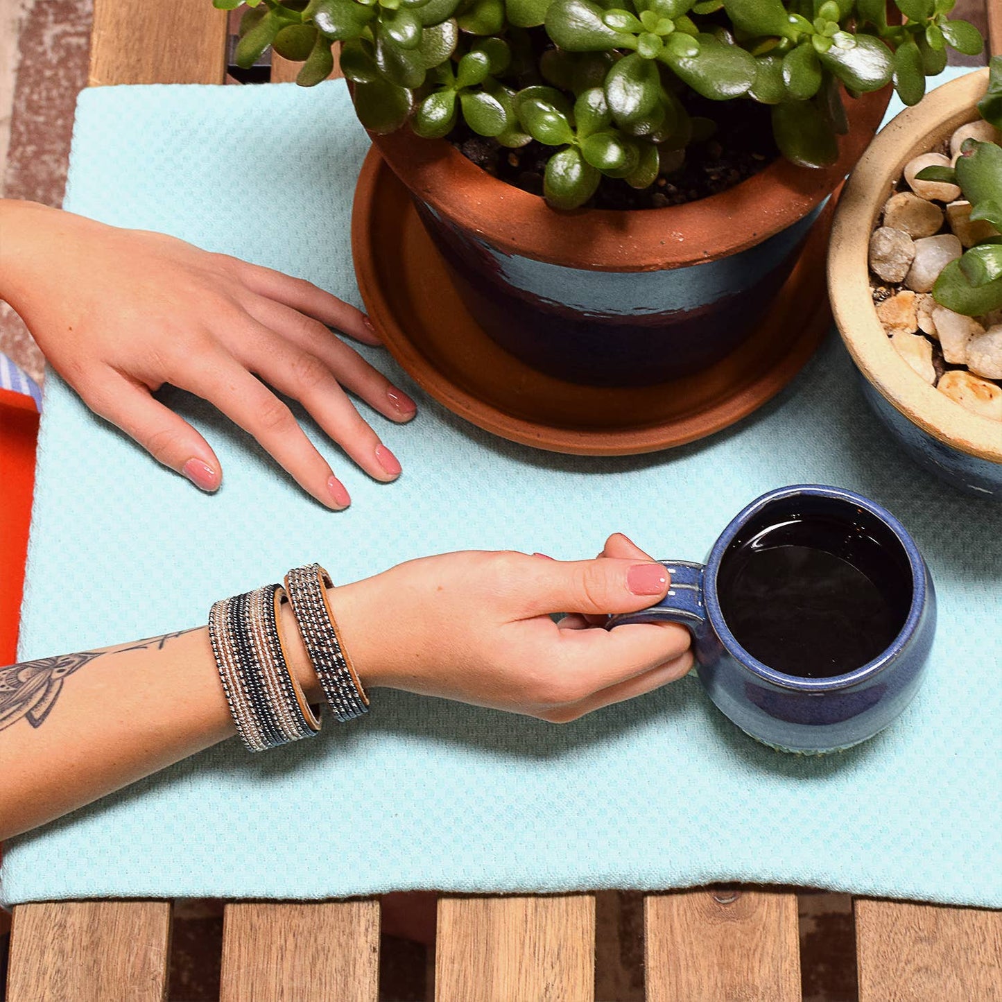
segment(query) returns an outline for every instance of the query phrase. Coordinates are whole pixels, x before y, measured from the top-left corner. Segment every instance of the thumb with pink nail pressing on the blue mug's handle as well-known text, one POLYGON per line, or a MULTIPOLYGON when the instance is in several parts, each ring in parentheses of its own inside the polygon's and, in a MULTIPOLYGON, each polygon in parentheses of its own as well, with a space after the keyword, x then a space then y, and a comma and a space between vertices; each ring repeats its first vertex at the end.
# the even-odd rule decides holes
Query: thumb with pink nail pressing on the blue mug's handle
POLYGON ((668 590, 668 572, 653 561, 535 560, 530 598, 535 614, 582 612, 610 615, 654 605, 668 590))

